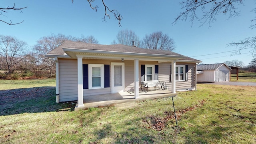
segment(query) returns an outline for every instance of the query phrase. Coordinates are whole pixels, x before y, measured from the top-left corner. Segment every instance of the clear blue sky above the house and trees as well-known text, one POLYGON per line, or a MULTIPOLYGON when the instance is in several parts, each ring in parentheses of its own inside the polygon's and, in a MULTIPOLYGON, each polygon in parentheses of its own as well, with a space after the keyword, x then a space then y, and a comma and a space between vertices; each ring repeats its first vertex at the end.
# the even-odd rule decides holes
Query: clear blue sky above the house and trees
POLYGON ((110 15, 107 22, 102 22, 104 7, 101 0, 95 0, 92 10, 87 0, 1 0, 1 7, 11 7, 15 2, 16 7, 28 8, 19 11, 10 11, 0 16, 1 20, 12 20, 9 26, 0 22, 0 34, 14 36, 25 41, 30 47, 43 36, 65 34, 80 37, 94 36, 100 44, 111 44, 120 30, 134 31, 141 39, 145 34, 162 31, 174 39, 175 52, 201 60, 204 64, 221 63, 230 60, 241 60, 245 65, 253 59, 250 50, 242 50, 241 54, 230 56, 235 47, 227 44, 238 42, 244 38, 254 37, 255 28, 250 29, 250 20, 256 14, 251 12, 255 7, 254 0, 246 0, 244 6, 238 6, 240 16, 228 19, 228 15, 219 14, 217 21, 200 26, 200 22, 178 21, 172 25, 174 18, 183 10, 178 0, 105 0, 110 9, 116 9, 123 16, 122 27, 110 15), (215 54, 225 52, 222 54, 215 54), (212 54, 212 55, 207 55, 212 54), (206 55, 206 56, 201 56, 206 55))

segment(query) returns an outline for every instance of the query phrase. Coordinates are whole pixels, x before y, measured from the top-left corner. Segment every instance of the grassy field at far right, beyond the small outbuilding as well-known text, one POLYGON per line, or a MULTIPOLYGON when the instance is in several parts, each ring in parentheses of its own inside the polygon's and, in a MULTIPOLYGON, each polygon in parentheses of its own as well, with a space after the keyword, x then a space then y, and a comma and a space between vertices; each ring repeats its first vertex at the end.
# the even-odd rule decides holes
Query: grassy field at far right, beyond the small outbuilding
POLYGON ((256 73, 247 72, 238 74, 238 80, 236 80, 236 74, 231 74, 231 80, 234 82, 256 82, 256 73))

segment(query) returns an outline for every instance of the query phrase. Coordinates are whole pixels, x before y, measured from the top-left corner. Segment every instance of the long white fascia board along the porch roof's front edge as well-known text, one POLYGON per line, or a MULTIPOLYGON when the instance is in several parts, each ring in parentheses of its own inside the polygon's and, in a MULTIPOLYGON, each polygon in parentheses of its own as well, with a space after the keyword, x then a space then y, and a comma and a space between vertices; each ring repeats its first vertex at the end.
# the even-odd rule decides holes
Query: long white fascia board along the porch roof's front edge
POLYGON ((174 56, 165 54, 144 54, 135 52, 114 52, 104 50, 87 50, 87 49, 75 49, 75 48, 62 48, 65 52, 87 52, 96 54, 115 54, 115 55, 127 55, 127 56, 144 56, 144 57, 158 57, 158 58, 186 58, 187 56, 174 56))

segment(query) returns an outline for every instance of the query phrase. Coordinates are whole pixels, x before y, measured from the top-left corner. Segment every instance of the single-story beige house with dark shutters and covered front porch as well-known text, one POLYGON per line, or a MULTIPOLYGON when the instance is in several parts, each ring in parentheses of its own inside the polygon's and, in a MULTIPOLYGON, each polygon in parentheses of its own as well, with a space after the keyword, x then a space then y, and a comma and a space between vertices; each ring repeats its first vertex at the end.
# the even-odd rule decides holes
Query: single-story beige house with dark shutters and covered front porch
POLYGON ((122 44, 101 45, 66 41, 46 56, 56 61, 56 102, 87 96, 131 92, 138 98, 140 82, 159 80, 164 89, 196 90, 200 60, 164 50, 122 44))

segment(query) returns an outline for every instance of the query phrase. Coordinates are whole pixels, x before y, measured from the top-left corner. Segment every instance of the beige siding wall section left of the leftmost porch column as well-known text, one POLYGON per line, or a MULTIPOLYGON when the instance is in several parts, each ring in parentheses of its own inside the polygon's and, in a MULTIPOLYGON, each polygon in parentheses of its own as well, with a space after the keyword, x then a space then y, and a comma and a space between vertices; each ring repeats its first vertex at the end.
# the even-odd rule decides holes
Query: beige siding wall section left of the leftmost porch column
POLYGON ((78 98, 77 60, 58 59, 59 61, 59 101, 72 101, 78 98))

